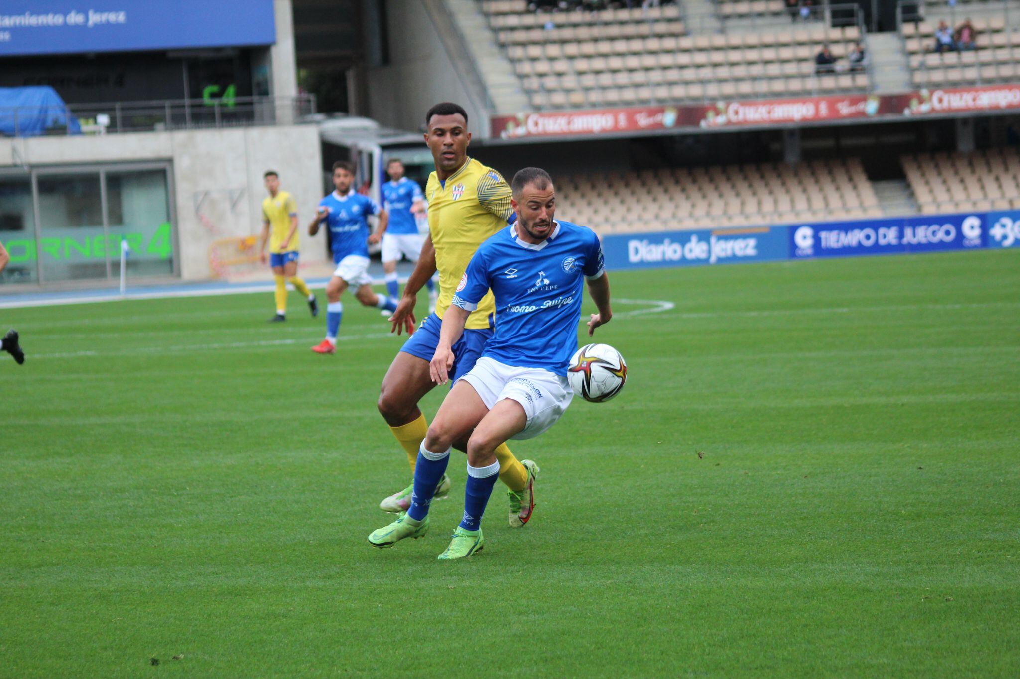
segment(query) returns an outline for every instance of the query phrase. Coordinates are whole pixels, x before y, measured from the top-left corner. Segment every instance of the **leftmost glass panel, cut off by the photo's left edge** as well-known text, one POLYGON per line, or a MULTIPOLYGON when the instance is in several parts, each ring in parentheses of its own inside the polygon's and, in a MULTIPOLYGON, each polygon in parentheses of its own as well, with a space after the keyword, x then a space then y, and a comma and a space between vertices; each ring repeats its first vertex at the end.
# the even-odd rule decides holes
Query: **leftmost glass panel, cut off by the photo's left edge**
POLYGON ((0 283, 36 282, 36 213, 32 205, 32 178, 0 175, 0 243, 10 263, 0 273, 0 283))

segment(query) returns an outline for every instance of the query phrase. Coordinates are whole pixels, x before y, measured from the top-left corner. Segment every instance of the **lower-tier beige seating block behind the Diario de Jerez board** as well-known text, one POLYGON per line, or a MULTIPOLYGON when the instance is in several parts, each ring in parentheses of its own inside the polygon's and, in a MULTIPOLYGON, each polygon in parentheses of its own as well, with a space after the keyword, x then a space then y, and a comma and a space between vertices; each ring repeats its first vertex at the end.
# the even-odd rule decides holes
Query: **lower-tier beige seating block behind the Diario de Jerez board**
POLYGON ((574 174, 557 193, 600 233, 881 216, 857 159, 574 174))

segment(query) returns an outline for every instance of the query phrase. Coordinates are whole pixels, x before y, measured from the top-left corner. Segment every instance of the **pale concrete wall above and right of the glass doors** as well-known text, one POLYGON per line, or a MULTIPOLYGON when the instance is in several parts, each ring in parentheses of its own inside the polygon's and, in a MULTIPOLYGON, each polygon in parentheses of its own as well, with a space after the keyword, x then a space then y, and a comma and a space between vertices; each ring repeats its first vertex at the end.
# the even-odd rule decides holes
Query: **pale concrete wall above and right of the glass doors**
MULTIPOLYGON (((175 255, 187 280, 211 276, 213 241, 261 231, 265 170, 279 172, 283 189, 294 195, 302 231, 322 198, 314 125, 0 139, 0 168, 139 161, 172 163, 175 255)), ((322 233, 304 233, 301 250, 303 261, 327 259, 322 233)))

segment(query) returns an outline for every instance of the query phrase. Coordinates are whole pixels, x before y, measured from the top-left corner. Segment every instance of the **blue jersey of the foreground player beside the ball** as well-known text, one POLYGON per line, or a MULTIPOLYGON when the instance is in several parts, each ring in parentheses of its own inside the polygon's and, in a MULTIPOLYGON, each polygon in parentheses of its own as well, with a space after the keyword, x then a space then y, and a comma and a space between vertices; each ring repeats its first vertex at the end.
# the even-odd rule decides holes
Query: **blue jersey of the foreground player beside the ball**
POLYGON ((460 279, 453 304, 473 311, 492 289, 496 331, 481 353, 520 368, 567 374, 577 350, 582 277, 603 273, 602 246, 590 228, 557 221, 545 242, 517 238, 516 226, 481 244, 460 279))

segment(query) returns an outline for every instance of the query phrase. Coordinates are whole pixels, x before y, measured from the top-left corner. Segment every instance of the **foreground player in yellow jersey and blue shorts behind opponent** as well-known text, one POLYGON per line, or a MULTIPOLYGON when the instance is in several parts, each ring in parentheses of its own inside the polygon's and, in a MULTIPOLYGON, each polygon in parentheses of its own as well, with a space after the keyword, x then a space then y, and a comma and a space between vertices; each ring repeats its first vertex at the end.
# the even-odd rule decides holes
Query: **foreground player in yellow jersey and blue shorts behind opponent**
MULTIPOLYGON (((414 272, 404 286, 397 311, 390 317, 398 333, 406 328, 412 334, 382 378, 378 400, 379 413, 407 453, 412 476, 418 456, 424 455, 419 448, 428 431, 428 423, 418 409, 418 401, 436 386, 428 373, 428 363, 439 343, 443 314, 475 250, 486 239, 506 228, 513 217, 507 182, 496 170, 467 157, 471 135, 467 132, 464 109, 449 102, 437 104, 425 114, 425 144, 436 161, 436 171, 428 176, 425 187, 428 236, 414 272), (436 312, 422 320, 415 330, 417 292, 437 270, 440 297, 436 312)), ((463 335, 453 347, 453 381, 474 366, 493 334, 495 311, 493 295, 489 293, 468 317, 463 335)), ((455 441, 454 447, 466 451, 466 439, 455 441)), ((534 477, 539 466, 530 460, 518 461, 506 443, 496 449, 496 457, 500 479, 508 487, 510 525, 519 528, 531 518, 534 509, 534 477)), ((432 497, 446 495, 450 487, 450 479, 444 474, 432 497)), ((406 511, 413 489, 412 484, 390 495, 379 508, 387 512, 406 511)))

